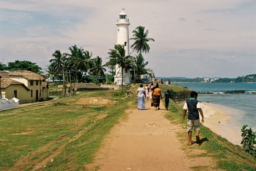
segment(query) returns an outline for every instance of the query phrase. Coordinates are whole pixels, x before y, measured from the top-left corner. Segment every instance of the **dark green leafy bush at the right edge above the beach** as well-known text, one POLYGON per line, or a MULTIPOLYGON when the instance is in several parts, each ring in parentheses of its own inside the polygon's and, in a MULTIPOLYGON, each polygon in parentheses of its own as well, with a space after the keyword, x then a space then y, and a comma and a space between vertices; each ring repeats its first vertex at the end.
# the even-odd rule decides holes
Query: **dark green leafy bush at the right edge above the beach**
POLYGON ((243 128, 241 129, 242 131, 242 147, 243 150, 247 153, 249 153, 252 157, 256 157, 256 132, 252 132, 252 129, 245 129, 248 125, 244 125, 243 128))

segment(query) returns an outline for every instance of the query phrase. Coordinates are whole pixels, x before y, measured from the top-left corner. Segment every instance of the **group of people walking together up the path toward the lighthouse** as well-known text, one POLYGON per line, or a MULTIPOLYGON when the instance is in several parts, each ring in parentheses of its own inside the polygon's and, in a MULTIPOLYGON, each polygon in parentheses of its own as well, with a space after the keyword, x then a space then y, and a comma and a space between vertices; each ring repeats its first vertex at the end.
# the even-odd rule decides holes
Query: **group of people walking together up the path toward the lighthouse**
POLYGON ((145 86, 145 89, 143 88, 143 85, 140 84, 138 88, 138 109, 144 110, 145 109, 145 98, 151 99, 151 106, 155 107, 156 110, 159 110, 160 100, 162 98, 165 98, 165 109, 168 109, 169 106, 169 99, 171 98, 170 90, 167 90, 167 93, 164 94, 164 97, 162 97, 161 89, 159 89, 159 84, 157 83, 156 86, 153 86, 153 83, 148 86, 148 84, 145 86))

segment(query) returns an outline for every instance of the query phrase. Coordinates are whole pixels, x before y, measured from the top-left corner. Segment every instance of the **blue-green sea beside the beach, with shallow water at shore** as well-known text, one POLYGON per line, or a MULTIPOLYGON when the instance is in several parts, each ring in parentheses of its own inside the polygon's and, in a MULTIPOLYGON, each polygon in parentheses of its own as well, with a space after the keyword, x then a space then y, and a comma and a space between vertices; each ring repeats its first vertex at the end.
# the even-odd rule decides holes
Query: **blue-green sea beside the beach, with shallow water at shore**
POLYGON ((256 132, 256 94, 252 94, 256 92, 256 83, 175 82, 171 84, 187 87, 196 92, 213 92, 214 94, 199 94, 197 100, 224 109, 230 115, 230 119, 227 120, 229 127, 241 131, 243 125, 248 125, 247 128, 251 127, 253 132, 256 132), (246 94, 223 94, 230 90, 245 90, 246 94))

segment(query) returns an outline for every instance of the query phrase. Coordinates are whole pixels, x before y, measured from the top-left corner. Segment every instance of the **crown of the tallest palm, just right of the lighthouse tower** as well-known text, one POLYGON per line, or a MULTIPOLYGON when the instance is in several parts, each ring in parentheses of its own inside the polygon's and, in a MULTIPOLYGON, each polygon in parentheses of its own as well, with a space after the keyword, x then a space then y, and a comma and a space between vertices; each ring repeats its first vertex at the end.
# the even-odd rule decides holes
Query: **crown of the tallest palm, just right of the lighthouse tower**
POLYGON ((132 31, 133 38, 130 38, 129 40, 135 40, 134 44, 131 45, 131 48, 133 51, 136 51, 137 53, 145 52, 148 53, 150 50, 149 45, 147 42, 149 41, 155 41, 153 38, 147 38, 148 36, 148 30, 144 32, 145 27, 138 26, 134 31, 132 31))

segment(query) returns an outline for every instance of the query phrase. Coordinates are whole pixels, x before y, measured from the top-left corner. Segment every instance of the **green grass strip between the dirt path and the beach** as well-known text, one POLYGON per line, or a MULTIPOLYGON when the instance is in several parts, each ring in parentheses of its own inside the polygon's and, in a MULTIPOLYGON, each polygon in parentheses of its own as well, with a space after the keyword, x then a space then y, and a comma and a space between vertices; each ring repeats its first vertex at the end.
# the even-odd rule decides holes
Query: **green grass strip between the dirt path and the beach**
MULTIPOLYGON (((163 100, 164 101, 164 100, 163 100)), ((171 123, 177 124, 181 127, 186 126, 186 121, 182 124, 183 105, 170 101, 169 113, 165 115, 171 123), (179 121, 179 123, 176 123, 179 121)), ((186 118, 186 117, 185 117, 186 118)), ((256 159, 252 158, 248 153, 243 152, 241 146, 233 145, 227 139, 213 133, 207 127, 200 125, 200 139, 203 142, 199 149, 205 150, 206 153, 198 155, 198 157, 212 157, 217 161, 216 169, 223 169, 226 171, 256 171, 256 159)), ((187 133, 177 133, 181 139, 187 139, 187 133)), ((192 132, 192 137, 195 137, 195 131, 192 132)), ((189 149, 185 149, 189 153, 189 149)), ((202 168, 192 167, 193 170, 199 171, 202 168)), ((207 170, 207 169, 206 169, 207 170)))

